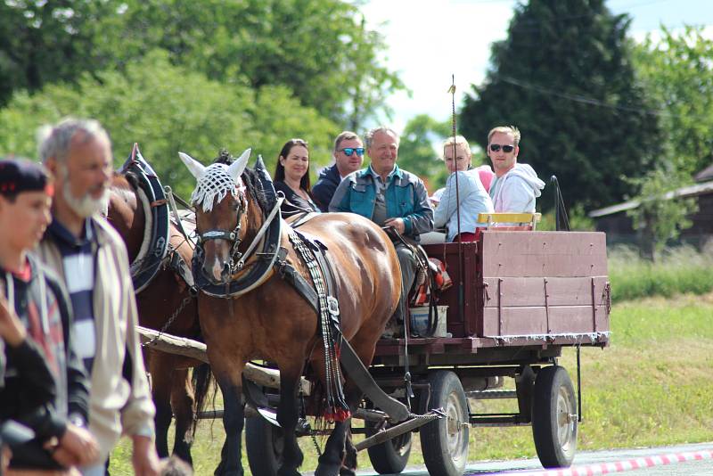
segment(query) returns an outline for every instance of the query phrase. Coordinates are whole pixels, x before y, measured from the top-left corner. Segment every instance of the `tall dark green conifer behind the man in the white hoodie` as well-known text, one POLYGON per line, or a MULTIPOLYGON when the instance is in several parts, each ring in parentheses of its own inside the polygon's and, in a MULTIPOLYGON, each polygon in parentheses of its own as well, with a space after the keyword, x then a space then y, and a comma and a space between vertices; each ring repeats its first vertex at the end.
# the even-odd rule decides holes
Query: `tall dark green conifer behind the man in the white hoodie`
POLYGON ((641 176, 660 159, 658 118, 635 82, 629 22, 603 0, 520 4, 508 38, 493 45, 484 84, 465 99, 463 134, 485 148, 491 127, 514 124, 520 161, 545 180, 557 175, 565 201, 620 201, 629 189, 620 176, 641 176))

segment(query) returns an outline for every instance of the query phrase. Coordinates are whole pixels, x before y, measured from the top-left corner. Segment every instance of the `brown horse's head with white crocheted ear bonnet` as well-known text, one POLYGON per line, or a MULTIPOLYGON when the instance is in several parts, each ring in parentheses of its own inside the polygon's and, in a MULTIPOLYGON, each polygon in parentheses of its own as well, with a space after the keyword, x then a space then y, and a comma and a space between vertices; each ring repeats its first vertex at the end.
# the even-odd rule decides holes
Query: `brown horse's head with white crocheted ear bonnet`
POLYGON ((221 153, 208 167, 184 152, 178 155, 197 181, 191 202, 203 253, 202 272, 211 283, 229 283, 238 246, 248 231, 249 201, 242 173, 250 149, 233 163, 226 152, 221 153))

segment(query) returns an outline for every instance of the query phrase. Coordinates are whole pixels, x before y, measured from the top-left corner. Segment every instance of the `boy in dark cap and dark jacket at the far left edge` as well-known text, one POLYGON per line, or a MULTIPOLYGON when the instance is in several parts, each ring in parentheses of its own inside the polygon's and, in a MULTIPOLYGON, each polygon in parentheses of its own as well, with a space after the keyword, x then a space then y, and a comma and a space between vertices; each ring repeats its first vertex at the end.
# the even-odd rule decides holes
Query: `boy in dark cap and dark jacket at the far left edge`
POLYGON ((98 456, 94 437, 82 428, 88 387, 70 339, 65 291, 28 252, 49 224, 52 195, 44 168, 0 160, 0 343, 6 358, 0 421, 16 420, 35 432, 12 447, 11 474, 72 474, 71 468, 98 456))

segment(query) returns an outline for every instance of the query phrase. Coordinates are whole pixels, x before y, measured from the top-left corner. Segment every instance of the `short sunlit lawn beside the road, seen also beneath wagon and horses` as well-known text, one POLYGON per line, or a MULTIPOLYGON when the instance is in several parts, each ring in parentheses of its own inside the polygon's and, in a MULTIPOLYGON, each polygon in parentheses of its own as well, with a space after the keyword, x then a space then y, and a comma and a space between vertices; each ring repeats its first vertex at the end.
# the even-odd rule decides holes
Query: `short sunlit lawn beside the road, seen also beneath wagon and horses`
MULTIPOLYGON (((680 295, 616 304, 611 346, 582 349, 584 422, 579 449, 643 447, 713 440, 713 294, 680 295)), ((560 361, 575 380, 573 349, 560 361)), ((512 384, 509 385, 512 388, 512 384)), ((516 411, 514 401, 472 402, 473 411, 516 411), (486 405, 487 404, 487 405, 486 405)), ((219 402, 217 407, 221 407, 219 402)), ((421 464, 418 436, 409 464, 421 464)), ((212 474, 224 438, 220 422, 203 421, 193 446, 196 474, 212 474)), ((323 442, 324 444, 324 442, 323 442)), ((111 474, 128 475, 127 441, 112 455, 111 474)), ((303 471, 316 450, 300 439, 303 471)), ((471 428, 470 460, 534 456, 529 427, 471 428)), ((248 472, 247 459, 243 464, 248 472)), ((368 456, 359 466, 369 467, 368 456)))

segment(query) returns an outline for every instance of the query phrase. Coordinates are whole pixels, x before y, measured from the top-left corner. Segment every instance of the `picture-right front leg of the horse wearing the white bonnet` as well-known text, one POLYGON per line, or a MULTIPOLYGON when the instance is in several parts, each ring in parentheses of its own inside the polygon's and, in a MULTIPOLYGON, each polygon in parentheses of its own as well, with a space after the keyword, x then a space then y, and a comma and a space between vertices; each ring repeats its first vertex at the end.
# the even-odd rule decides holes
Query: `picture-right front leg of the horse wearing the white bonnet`
POLYGON ((283 429, 283 464, 278 476, 299 476, 297 469, 304 455, 297 443, 297 421, 299 419, 299 379, 304 364, 299 358, 278 362, 280 368, 280 404, 277 406, 277 422, 283 429))

